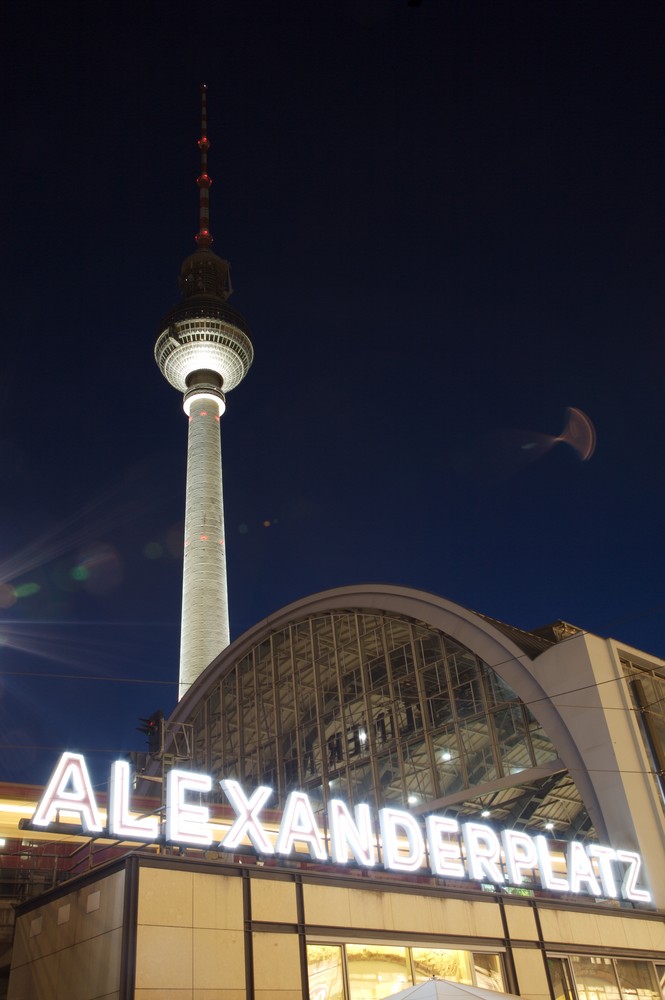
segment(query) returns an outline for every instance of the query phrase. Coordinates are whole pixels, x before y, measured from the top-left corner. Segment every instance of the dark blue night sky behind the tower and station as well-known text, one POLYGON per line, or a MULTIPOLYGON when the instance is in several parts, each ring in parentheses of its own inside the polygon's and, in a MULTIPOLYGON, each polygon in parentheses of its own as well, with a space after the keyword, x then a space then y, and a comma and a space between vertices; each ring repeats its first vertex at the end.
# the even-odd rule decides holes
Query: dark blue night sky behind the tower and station
POLYGON ((198 228, 255 361, 222 421, 232 634, 391 583, 665 656, 665 6, 14 4, 2 29, 0 778, 177 691, 198 228), (588 461, 556 442, 569 407, 588 461))

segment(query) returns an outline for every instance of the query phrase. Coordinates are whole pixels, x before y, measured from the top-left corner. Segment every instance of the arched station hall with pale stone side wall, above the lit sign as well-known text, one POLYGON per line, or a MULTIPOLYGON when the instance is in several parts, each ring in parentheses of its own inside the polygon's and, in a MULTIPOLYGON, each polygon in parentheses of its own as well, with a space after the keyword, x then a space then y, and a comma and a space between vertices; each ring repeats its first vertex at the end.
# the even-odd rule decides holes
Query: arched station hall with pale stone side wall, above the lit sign
POLYGON ((270 785, 277 808, 301 788, 321 815, 342 798, 483 816, 622 844, 659 872, 664 667, 562 622, 525 632, 421 591, 346 587, 247 632, 173 721, 193 726, 194 769, 270 785))

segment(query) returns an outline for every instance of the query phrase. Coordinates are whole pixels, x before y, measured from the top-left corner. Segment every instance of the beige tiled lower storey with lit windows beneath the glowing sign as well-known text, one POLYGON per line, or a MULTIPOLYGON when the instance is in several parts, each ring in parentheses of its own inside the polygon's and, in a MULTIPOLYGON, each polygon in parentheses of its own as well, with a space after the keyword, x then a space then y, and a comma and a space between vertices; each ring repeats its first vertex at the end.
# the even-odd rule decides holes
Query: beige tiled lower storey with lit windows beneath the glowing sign
POLYGON ((375 1000, 432 976, 660 1000, 655 912, 129 854, 21 907, 10 1000, 375 1000))

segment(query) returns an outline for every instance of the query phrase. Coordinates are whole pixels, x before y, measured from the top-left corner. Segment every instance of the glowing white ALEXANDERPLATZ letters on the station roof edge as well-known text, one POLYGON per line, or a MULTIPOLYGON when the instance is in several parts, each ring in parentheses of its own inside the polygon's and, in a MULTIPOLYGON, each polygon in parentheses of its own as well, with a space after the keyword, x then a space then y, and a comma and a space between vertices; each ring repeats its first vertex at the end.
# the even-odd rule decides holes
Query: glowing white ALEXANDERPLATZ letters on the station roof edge
MULTIPOLYGON (((249 842, 257 854, 283 859, 302 859, 304 848, 317 862, 355 863, 361 868, 373 868, 380 862, 385 869, 395 872, 425 874, 429 869, 432 875, 446 879, 651 902, 651 894, 640 884, 642 859, 634 851, 571 840, 565 853, 552 852, 552 842, 544 836, 530 836, 518 830, 497 832, 486 823, 458 823, 449 816, 436 814, 425 818, 423 829, 422 821, 392 806, 378 810, 380 838, 377 839, 370 807, 358 805, 352 812, 340 799, 328 803, 326 838, 309 797, 300 791, 288 796, 275 832, 266 829, 261 819, 272 789, 261 785, 247 795, 231 779, 223 779, 220 785, 235 820, 215 843, 210 811, 199 804, 201 796, 212 790, 212 784, 212 778, 206 774, 177 768, 167 772, 163 837, 168 843, 234 851, 249 842), (193 797, 199 803, 192 801, 193 797)), ((105 828, 85 759, 81 754, 63 753, 30 826, 48 831, 63 811, 77 815, 84 832, 92 837, 161 841, 157 816, 132 813, 130 786, 129 764, 116 761, 111 766, 105 828)), ((58 832, 62 832, 62 826, 57 826, 58 832)))

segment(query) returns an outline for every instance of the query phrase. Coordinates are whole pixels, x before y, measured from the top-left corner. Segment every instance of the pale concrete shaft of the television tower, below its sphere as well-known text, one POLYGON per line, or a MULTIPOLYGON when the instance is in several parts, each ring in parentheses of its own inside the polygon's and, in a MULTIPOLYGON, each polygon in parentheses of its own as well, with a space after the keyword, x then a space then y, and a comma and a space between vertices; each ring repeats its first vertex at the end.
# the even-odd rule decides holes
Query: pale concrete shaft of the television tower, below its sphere
POLYGON ((189 402, 179 697, 228 646, 220 400, 189 402))

